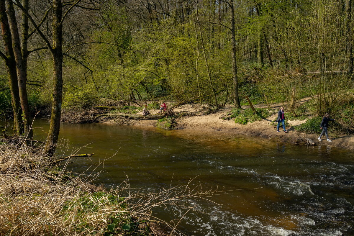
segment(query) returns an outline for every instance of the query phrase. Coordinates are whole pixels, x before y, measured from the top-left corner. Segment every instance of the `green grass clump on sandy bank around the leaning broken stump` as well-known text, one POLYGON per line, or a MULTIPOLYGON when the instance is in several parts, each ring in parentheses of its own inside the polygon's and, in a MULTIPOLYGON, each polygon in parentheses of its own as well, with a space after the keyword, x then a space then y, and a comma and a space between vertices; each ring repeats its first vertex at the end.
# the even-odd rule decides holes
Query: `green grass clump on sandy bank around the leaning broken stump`
POLYGON ((252 123, 257 120, 262 120, 273 113, 265 108, 256 108, 257 113, 255 114, 251 108, 246 108, 241 110, 240 108, 233 108, 230 113, 230 118, 235 118, 235 123, 246 125, 247 123, 252 123))

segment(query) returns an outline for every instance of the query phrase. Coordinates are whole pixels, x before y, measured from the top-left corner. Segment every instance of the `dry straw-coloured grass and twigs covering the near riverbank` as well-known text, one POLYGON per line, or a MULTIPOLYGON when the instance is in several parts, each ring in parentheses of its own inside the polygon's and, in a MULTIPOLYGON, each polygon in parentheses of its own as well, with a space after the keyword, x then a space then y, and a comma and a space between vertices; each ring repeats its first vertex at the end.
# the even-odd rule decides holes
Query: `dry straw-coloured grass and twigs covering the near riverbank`
MULTIPOLYGON (((62 169, 24 145, 0 144, 0 235, 165 235, 155 208, 187 212, 187 198, 219 193, 188 185, 137 190, 128 181, 107 190, 91 184, 94 175, 62 169)), ((179 220, 174 222, 166 223, 170 235, 176 234, 179 220)))

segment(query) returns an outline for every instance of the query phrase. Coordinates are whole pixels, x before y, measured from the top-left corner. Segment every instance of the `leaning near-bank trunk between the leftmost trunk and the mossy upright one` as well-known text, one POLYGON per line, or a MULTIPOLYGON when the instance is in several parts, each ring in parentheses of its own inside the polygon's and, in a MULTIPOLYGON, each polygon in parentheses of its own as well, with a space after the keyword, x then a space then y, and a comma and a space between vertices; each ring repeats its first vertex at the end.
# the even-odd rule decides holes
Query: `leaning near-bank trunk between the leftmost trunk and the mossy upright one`
MULTIPOLYGON (((27 2, 28 3, 28 2, 27 2)), ((10 24, 10 30, 12 35, 12 48, 15 55, 16 60, 16 70, 17 70, 17 79, 18 79, 18 90, 21 102, 21 109, 22 109, 22 121, 24 125, 24 135, 32 139, 33 131, 31 129, 32 121, 30 119, 30 112, 29 112, 29 104, 27 98, 27 88, 26 88, 26 81, 27 81, 27 64, 24 63, 22 50, 21 50, 21 42, 18 35, 18 27, 16 21, 16 14, 15 9, 13 8, 13 3, 11 0, 6 0, 6 7, 7 7, 7 15, 8 21, 10 24)), ((27 4, 28 8, 28 4, 27 4)), ((27 41, 27 34, 28 34, 28 24, 25 26, 26 28, 23 29, 23 37, 22 42, 27 41), (26 32, 27 31, 27 32, 26 32)), ((27 42, 24 44, 27 50, 27 42)), ((27 57, 26 57, 27 62, 27 57)))

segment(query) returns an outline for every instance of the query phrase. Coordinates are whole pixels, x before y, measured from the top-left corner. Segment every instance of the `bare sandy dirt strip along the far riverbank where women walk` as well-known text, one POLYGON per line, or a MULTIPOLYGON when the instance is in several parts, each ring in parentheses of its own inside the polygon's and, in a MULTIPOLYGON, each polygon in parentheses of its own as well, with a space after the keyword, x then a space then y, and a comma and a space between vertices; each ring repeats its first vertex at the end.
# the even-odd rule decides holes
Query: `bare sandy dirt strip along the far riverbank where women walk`
MULTIPOLYGON (((304 103, 310 100, 311 97, 303 98, 299 100, 299 103, 304 103)), ((272 108, 277 109, 283 104, 272 104, 272 108)), ((258 104, 254 105, 255 108, 267 108, 267 105, 258 104)), ((249 108, 249 106, 242 106, 242 108, 249 108)), ((314 141, 316 145, 328 145, 336 146, 339 148, 346 148, 354 150, 354 135, 343 135, 340 137, 333 137, 333 134, 330 132, 329 136, 332 142, 327 142, 325 137, 320 142, 317 138, 317 134, 305 134, 299 133, 294 130, 293 126, 300 125, 301 123, 306 122, 306 120, 293 120, 288 121, 291 127, 286 127, 288 130, 287 133, 281 131, 280 133, 276 132, 276 124, 272 124, 272 121, 276 119, 277 114, 272 115, 261 121, 256 121, 253 123, 247 123, 246 125, 236 124, 233 119, 223 120, 222 116, 226 116, 231 110, 232 106, 227 104, 225 107, 220 108, 217 113, 209 115, 201 115, 202 107, 199 104, 185 104, 178 108, 175 108, 174 111, 178 113, 184 113, 184 116, 178 117, 177 129, 195 129, 200 131, 215 131, 215 132, 224 132, 232 134, 240 134, 252 137, 263 137, 269 138, 274 141, 281 141, 294 144, 306 144, 307 139, 310 138, 314 141)), ((277 109, 278 110, 278 109, 277 109)), ((158 113, 159 110, 151 110, 152 114, 158 113)), ((114 122, 114 121, 108 121, 114 122)), ((138 126, 156 126, 156 120, 130 120, 127 123, 128 125, 138 125, 138 126)), ((280 128, 282 130, 282 128, 280 128)))

